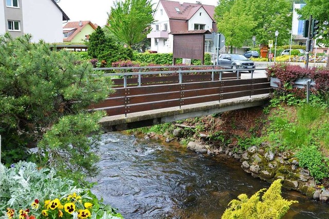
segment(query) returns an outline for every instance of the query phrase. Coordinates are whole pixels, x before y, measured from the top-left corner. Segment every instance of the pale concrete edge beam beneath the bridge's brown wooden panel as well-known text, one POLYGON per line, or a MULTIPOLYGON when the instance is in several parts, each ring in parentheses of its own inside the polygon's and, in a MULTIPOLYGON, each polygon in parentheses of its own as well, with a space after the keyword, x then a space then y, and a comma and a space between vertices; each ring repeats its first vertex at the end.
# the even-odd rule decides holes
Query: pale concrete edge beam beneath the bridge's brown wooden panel
POLYGON ((260 95, 260 97, 239 98, 237 100, 230 100, 228 102, 221 103, 214 101, 209 103, 186 105, 184 108, 172 107, 157 109, 154 111, 132 113, 127 117, 124 117, 124 115, 108 116, 104 117, 100 123, 103 126, 103 130, 105 132, 124 131, 136 129, 137 127, 144 127, 187 118, 223 113, 236 109, 263 106, 268 102, 269 99, 269 95, 260 95))

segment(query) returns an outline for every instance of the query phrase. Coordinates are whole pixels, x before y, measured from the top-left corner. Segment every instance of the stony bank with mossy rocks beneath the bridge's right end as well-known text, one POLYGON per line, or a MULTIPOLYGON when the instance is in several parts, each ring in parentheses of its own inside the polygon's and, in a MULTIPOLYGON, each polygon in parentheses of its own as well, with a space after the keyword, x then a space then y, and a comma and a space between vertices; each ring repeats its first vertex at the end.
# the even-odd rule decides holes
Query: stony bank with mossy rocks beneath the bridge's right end
POLYGON ((266 129, 269 117, 263 113, 263 108, 254 107, 184 120, 167 127, 167 132, 162 135, 150 132, 145 138, 178 141, 197 153, 226 155, 239 161, 242 169, 253 177, 267 182, 281 178, 285 188, 296 190, 310 199, 327 202, 329 192, 325 181, 317 184, 309 170, 300 166, 296 152, 282 151, 269 141, 260 141, 258 137, 266 129))

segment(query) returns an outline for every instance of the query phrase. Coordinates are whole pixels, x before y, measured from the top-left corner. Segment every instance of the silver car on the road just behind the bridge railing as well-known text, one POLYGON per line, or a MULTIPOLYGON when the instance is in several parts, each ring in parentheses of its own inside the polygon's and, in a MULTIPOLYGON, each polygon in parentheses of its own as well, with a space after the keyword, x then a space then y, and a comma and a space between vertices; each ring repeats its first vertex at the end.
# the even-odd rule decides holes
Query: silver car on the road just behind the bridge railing
MULTIPOLYGON (((221 54, 218 57, 218 65, 224 65, 224 68, 232 68, 233 72, 241 68, 255 68, 253 61, 247 59, 241 54, 221 54)), ((252 72, 253 70, 249 70, 252 72)))

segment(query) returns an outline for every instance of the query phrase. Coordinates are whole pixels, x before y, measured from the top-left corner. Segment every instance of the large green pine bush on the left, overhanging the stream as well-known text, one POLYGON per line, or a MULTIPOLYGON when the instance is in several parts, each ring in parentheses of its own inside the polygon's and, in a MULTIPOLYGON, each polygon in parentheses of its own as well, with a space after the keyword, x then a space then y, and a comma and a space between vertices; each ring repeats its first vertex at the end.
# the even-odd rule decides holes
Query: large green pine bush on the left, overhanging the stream
POLYGON ((95 172, 95 139, 85 136, 100 131, 102 116, 86 107, 111 93, 111 81, 74 53, 51 51, 49 44, 30 39, 29 34, 0 37, 2 160, 10 165, 27 159, 26 147, 42 140, 41 165, 61 167, 63 175, 81 180, 82 172, 95 172))

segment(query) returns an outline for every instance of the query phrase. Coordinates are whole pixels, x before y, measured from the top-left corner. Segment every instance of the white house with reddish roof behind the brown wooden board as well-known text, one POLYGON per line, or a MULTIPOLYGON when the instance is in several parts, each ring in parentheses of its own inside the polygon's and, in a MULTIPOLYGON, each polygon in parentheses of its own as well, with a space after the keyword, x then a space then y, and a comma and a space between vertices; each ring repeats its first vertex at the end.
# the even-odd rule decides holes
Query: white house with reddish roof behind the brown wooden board
MULTIPOLYGON (((155 23, 151 25, 152 31, 147 36, 151 39, 151 50, 159 53, 173 52, 172 31, 216 31, 214 10, 213 5, 160 0, 153 15, 155 23)), ((206 39, 205 52, 212 52, 212 49, 212 39, 206 39)))

